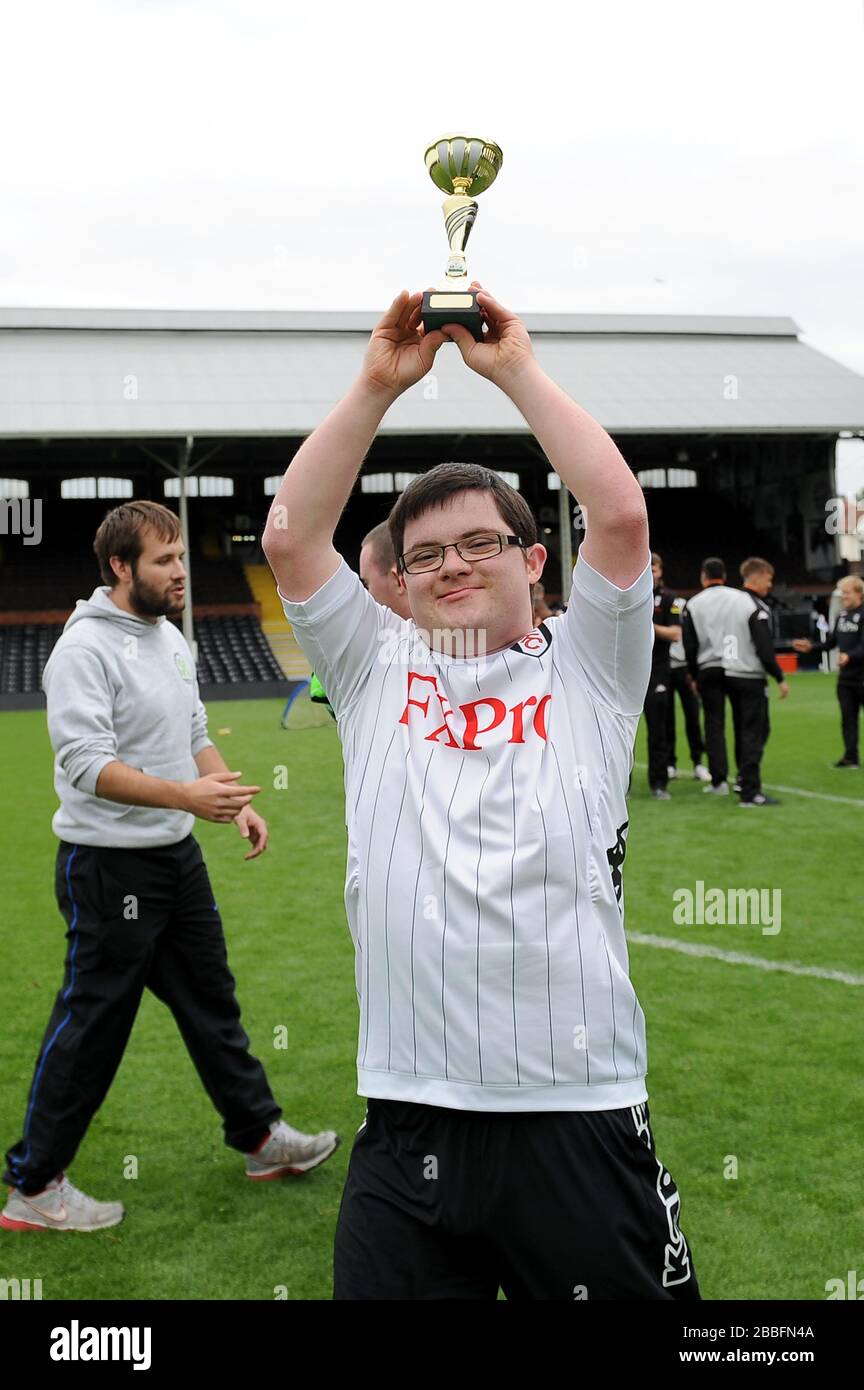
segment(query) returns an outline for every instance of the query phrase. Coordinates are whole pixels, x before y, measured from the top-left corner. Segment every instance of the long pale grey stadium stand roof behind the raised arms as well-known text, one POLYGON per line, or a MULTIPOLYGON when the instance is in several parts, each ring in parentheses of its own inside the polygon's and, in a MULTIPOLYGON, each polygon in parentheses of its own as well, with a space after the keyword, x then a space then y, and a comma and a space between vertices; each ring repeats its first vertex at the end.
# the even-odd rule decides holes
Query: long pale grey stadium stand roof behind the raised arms
MULTIPOLYGON (((304 435, 378 313, 0 309, 0 436, 304 435)), ((615 435, 864 430, 864 377, 783 317, 524 314, 540 366, 615 435)), ((528 425, 446 345, 383 434, 528 425)))

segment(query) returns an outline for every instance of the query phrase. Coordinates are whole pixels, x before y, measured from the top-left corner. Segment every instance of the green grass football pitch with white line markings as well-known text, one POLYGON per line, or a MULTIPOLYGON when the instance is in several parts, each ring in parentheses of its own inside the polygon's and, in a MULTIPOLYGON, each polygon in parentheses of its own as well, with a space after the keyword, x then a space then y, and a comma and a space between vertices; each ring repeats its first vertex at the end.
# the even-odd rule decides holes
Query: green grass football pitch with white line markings
MULTIPOLYGON (((168 1011, 146 995, 114 1086, 69 1168, 125 1222, 96 1234, 0 1233, 0 1277, 42 1279, 50 1298, 329 1298, 332 1236, 350 1147, 357 1011, 343 912, 342 758, 326 712, 299 701, 210 706, 232 769, 257 781, 271 847, 251 863, 233 826, 199 821, 253 1051, 285 1118, 335 1127, 343 1147, 303 1179, 250 1183, 228 1150, 168 1011), (221 733, 229 730, 229 733, 221 733), (288 767, 288 788, 274 769, 288 767), (288 1030, 288 1048, 274 1045, 288 1030), (129 1156, 138 1177, 124 1177, 129 1156)), ((864 774, 840 755, 833 677, 771 692, 764 760, 782 805, 742 815, 689 776, 649 799, 640 728, 624 870, 626 927, 771 962, 864 974, 864 774), (825 798, 825 799, 822 799, 825 798), (835 799, 836 798, 836 799, 835 799), (782 927, 678 926, 672 894, 779 888, 782 927)), ((689 759, 679 720, 679 764, 689 759)), ((61 983, 53 897, 56 798, 44 714, 0 716, 4 969, 0 1140, 19 1137, 42 1033, 61 983)), ((657 1151, 678 1182, 703 1295, 822 1300, 864 1275, 860 986, 631 944, 647 1016, 657 1151), (728 1176, 735 1170, 738 1176, 728 1176)))

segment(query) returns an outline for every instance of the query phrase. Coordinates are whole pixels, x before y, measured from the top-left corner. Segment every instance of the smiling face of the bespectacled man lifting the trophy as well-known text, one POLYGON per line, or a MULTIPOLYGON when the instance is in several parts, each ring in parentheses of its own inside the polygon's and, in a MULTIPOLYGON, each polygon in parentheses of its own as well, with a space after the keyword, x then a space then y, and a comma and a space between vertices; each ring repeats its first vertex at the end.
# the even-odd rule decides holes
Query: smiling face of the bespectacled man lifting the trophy
MULTIPOLYGON (((489 492, 456 492, 406 523, 403 552, 418 545, 447 545, 467 534, 496 531, 513 535, 489 492)), ((503 651, 533 627, 531 585, 540 578, 546 549, 504 545, 488 560, 464 560, 453 548, 439 570, 401 574, 411 616, 426 634, 435 630, 475 631, 475 651, 503 651)))

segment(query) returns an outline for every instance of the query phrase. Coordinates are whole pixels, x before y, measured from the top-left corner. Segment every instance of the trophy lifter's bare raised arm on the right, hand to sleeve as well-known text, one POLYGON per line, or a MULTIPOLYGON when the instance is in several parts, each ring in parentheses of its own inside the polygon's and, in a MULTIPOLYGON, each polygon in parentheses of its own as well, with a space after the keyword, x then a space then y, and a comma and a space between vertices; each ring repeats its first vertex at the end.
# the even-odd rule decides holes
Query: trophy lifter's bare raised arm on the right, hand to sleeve
MULTIPOLYGON (((478 281, 474 281, 478 285, 478 281)), ((445 325, 468 366, 510 396, 564 486, 585 512, 581 553, 618 588, 629 588, 649 559, 645 496, 617 446, 586 410, 538 364, 522 321, 479 289, 489 334, 475 342, 467 328, 445 325)))

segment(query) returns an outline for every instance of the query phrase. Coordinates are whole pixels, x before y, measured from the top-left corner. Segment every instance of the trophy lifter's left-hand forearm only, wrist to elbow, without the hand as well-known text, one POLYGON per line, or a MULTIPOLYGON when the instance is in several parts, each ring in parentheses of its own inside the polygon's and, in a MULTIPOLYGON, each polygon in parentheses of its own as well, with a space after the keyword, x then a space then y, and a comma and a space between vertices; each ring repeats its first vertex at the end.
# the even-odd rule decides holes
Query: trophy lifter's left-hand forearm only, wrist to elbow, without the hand
POLYGON ((267 518, 268 555, 329 541, 351 495, 378 427, 397 398, 354 382, 347 396, 300 445, 267 518))

